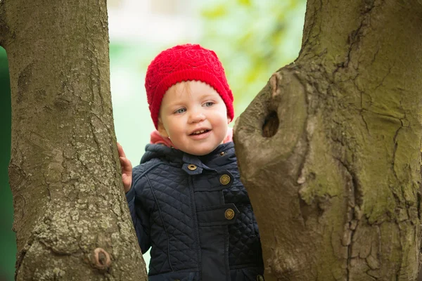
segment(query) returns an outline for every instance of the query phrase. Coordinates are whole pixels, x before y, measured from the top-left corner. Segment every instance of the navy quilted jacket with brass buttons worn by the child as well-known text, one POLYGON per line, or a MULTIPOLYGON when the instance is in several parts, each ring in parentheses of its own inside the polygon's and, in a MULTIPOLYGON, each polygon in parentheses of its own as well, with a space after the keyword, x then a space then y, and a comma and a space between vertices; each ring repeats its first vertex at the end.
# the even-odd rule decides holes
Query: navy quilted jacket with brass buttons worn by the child
POLYGON ((149 280, 263 280, 257 222, 234 144, 205 156, 146 145, 126 194, 149 280))

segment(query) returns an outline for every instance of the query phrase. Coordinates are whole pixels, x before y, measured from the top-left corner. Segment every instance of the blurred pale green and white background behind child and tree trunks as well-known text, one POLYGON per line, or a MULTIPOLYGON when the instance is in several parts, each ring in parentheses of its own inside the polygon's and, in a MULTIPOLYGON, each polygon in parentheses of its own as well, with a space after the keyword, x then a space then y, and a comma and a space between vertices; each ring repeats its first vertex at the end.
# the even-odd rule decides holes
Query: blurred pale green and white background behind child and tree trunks
MULTIPOLYGON (((306 0, 108 0, 115 133, 132 164, 139 163, 154 129, 143 82, 155 55, 185 43, 214 50, 234 93, 238 117, 271 74, 297 58, 305 6, 306 0)), ((0 281, 6 281, 13 280, 16 244, 8 185, 11 98, 3 48, 0 126, 0 281)), ((144 258, 148 264, 149 254, 144 258)))

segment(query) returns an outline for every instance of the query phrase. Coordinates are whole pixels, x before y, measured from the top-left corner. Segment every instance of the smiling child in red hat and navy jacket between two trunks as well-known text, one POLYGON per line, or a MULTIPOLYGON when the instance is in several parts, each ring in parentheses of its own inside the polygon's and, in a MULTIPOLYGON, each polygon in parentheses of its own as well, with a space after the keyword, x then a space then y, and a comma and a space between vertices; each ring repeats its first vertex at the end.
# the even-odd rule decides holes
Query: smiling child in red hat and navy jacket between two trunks
POLYGON ((134 167, 118 145, 129 210, 149 280, 264 280, 257 222, 228 124, 233 96, 217 55, 186 44, 148 67, 155 131, 134 167))

